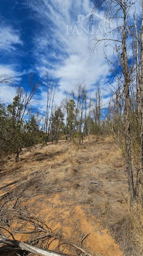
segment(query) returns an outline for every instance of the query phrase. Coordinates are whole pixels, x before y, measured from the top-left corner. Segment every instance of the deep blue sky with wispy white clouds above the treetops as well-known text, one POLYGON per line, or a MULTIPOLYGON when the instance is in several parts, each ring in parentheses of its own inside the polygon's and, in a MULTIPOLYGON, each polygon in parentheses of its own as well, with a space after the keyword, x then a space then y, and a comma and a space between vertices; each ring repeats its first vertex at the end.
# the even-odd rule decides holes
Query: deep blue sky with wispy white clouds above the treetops
MULTIPOLYGON (((100 10, 90 21, 92 6, 91 0, 1 0, 0 75, 26 77, 34 72, 37 80, 44 81, 48 72, 59 84, 58 104, 64 90, 70 92, 77 83, 84 80, 92 93, 100 83, 107 102, 110 74, 102 44, 93 58, 89 54, 89 42, 102 31, 98 22, 103 17, 100 10)), ((108 56, 112 54, 108 49, 108 56)), ((8 85, 0 85, 2 102, 11 102, 14 93, 8 85)), ((44 83, 39 94, 44 110, 44 83)))

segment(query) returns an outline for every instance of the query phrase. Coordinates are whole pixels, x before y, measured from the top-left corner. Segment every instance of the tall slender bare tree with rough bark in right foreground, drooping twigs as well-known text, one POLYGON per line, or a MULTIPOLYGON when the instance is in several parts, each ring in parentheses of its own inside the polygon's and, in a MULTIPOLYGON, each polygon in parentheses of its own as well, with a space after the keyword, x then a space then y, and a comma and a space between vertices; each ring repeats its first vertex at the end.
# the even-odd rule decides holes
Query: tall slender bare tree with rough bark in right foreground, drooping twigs
POLYGON ((135 11, 135 2, 131 0, 96 0, 91 16, 101 7, 104 9, 103 22, 105 29, 101 37, 97 37, 90 42, 90 50, 93 54, 100 44, 103 44, 105 58, 110 71, 123 84, 125 97, 125 147, 126 163, 128 172, 128 183, 130 199, 134 198, 134 182, 131 161, 131 131, 130 131, 130 84, 131 74, 129 71, 130 60, 128 57, 128 44, 130 43, 130 33, 128 28, 132 26, 131 13, 135 11), (113 48, 115 61, 107 56, 106 49, 113 48), (122 73, 121 73, 122 72, 122 73))

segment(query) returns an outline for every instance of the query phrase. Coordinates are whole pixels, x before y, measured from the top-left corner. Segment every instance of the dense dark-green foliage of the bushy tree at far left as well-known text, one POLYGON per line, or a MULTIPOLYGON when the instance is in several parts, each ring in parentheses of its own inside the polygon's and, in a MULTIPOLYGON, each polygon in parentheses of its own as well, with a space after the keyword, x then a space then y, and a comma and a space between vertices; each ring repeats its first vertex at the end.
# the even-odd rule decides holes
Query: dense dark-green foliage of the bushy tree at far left
POLYGON ((15 153, 16 161, 22 148, 31 148, 38 143, 39 130, 35 117, 31 114, 21 119, 23 104, 15 96, 7 107, 0 104, 0 144, 1 153, 15 153))

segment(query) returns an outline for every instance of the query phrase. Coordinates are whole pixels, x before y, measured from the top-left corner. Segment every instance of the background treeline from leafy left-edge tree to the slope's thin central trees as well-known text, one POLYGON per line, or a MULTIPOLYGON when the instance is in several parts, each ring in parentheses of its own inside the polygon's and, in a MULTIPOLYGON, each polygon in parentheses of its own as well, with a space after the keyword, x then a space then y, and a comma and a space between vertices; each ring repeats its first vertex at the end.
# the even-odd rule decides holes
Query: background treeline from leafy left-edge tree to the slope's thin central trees
POLYGON ((42 83, 35 82, 34 74, 29 75, 26 90, 16 87, 11 104, 0 103, 0 152, 15 153, 16 162, 23 148, 30 150, 38 143, 57 144, 59 139, 67 139, 79 145, 85 136, 90 139, 91 134, 107 132, 99 86, 95 97, 91 98, 85 83, 79 83, 70 93, 63 93, 58 106, 55 104, 58 85, 48 74, 45 79, 47 102, 44 114, 36 108, 42 83))

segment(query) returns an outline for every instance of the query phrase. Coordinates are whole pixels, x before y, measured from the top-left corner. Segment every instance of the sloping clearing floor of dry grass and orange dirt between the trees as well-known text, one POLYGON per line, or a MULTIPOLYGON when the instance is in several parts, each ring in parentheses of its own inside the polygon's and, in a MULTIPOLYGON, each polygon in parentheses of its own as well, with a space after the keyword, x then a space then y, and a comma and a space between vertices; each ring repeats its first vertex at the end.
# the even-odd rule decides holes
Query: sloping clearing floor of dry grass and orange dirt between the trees
MULTIPOLYGON (((19 163, 14 163, 14 155, 3 160, 0 179, 1 196, 21 184, 12 192, 12 204, 48 221, 52 232, 94 255, 123 255, 106 225, 111 212, 116 219, 126 210, 128 192, 124 161, 110 138, 86 139, 79 148, 60 141, 36 146, 31 152, 25 149, 19 163), (40 176, 31 180, 36 171, 40 176)), ((12 219, 9 225, 16 229, 20 221, 12 219)), ((33 238, 31 234, 13 235, 21 242, 33 238)), ((53 239, 41 247, 73 253, 68 245, 53 239)))

